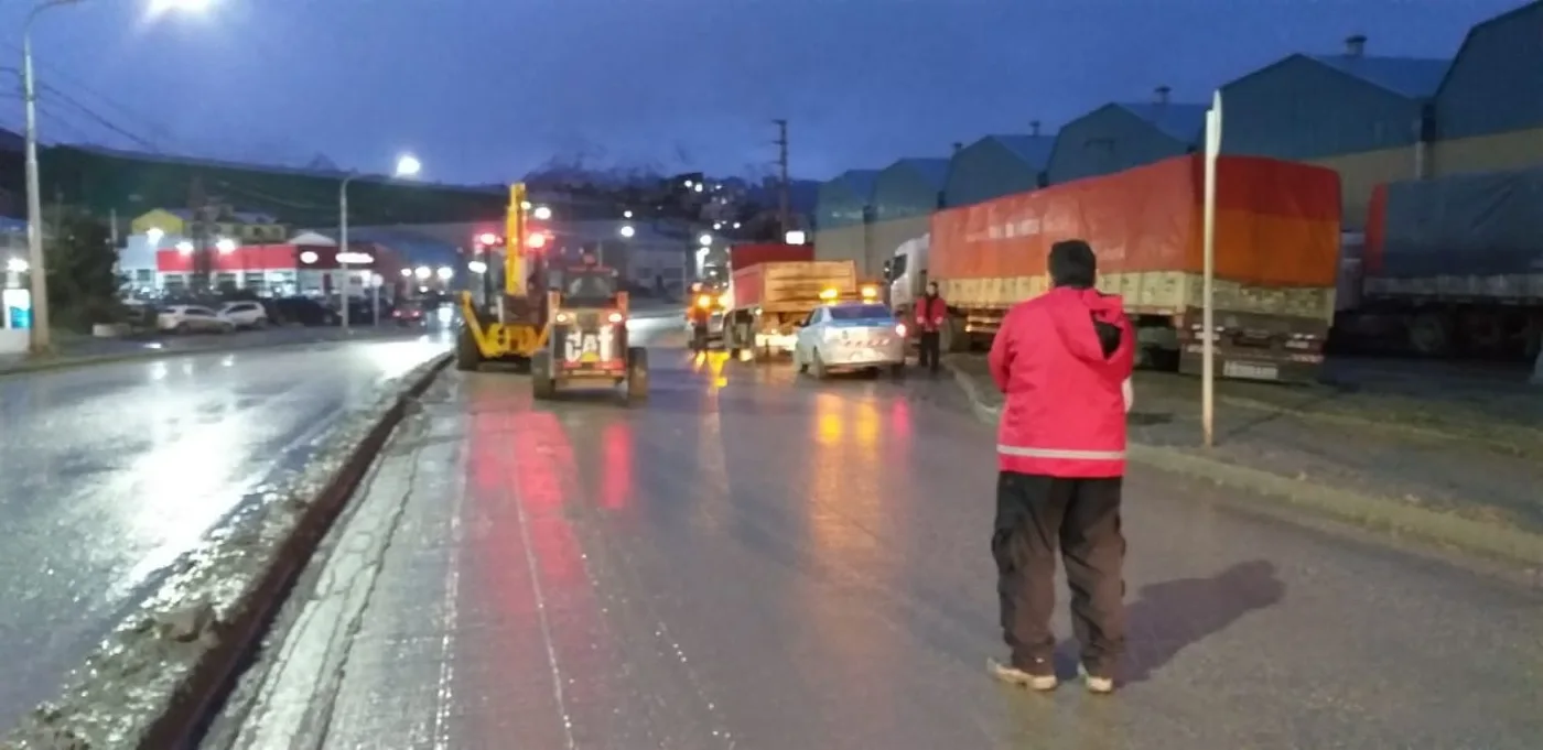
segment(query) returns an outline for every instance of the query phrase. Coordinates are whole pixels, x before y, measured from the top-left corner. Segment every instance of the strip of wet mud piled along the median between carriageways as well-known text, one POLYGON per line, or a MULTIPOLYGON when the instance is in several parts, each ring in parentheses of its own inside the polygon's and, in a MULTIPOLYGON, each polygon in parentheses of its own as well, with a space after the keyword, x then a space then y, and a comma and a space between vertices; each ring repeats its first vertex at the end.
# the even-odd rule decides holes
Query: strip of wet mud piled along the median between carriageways
POLYGON ((329 495, 360 463, 361 444, 395 421, 404 394, 421 390, 446 361, 447 355, 437 356, 384 383, 372 406, 344 415, 319 438, 304 471, 272 486, 262 503, 181 560, 156 594, 71 671, 62 696, 23 718, 0 748, 174 747, 168 733, 181 735, 210 708, 239 651, 272 614, 284 583, 275 571, 304 565, 295 559, 306 554, 302 537, 326 532, 326 523, 307 526, 327 520, 322 505, 339 502, 329 495))

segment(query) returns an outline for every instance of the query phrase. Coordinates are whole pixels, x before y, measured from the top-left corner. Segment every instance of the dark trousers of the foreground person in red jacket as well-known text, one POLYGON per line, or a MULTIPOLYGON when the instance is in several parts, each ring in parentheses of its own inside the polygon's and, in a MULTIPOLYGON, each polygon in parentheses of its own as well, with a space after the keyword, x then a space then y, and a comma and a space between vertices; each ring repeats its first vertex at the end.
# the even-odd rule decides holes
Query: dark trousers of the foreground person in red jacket
POLYGON ((1125 653, 1125 535, 1120 478, 997 475, 997 559, 1001 631, 1012 665, 1031 674, 1052 670, 1055 552, 1066 563, 1071 622, 1089 674, 1113 677, 1125 653))

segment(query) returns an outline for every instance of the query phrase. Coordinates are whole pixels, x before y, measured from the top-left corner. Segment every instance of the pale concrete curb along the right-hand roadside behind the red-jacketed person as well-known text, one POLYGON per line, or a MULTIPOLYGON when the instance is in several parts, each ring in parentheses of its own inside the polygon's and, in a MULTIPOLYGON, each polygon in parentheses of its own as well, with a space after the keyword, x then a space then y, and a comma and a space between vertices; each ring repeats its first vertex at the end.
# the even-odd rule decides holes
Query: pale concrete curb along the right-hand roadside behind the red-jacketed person
MULTIPOLYGON (((984 403, 980 384, 969 375, 946 360, 943 364, 947 366, 949 372, 954 373, 955 383, 964 390, 975 418, 995 426, 1001 409, 984 403)), ((1369 495, 1310 480, 1298 480, 1270 471, 1197 455, 1182 448, 1131 443, 1126 448, 1126 457, 1131 461, 1159 471, 1248 489, 1253 495, 1241 495, 1247 500, 1284 503, 1376 531, 1418 537, 1529 566, 1543 566, 1543 534, 1515 526, 1478 522, 1413 506, 1390 497, 1369 495)))

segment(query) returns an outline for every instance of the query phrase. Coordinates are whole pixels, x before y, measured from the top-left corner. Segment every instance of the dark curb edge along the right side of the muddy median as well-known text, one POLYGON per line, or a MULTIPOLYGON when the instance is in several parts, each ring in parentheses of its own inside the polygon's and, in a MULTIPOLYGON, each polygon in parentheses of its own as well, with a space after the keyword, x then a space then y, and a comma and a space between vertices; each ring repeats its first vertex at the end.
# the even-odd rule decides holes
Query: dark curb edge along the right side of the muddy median
MULTIPOLYGON (((333 520, 347 506, 358 485, 369 474, 380 451, 386 446, 392 432, 407 414, 409 403, 423 395, 434 380, 452 361, 451 353, 437 355, 421 366, 420 375, 406 383, 390 406, 381 414, 364 438, 346 452, 343 466, 333 474, 276 545, 265 566, 244 591, 236 596, 236 602, 228 608, 228 616, 214 623, 210 642, 191 657, 182 674, 174 677, 170 694, 157 690, 154 696, 140 696, 140 704, 156 704, 154 711, 147 711, 143 721, 125 721, 128 727, 119 727, 114 736, 119 742, 113 747, 134 747, 139 750, 167 750, 191 747, 204 728, 211 711, 218 710, 221 701, 235 685, 242 667, 261 647, 268 625, 278 614, 279 606, 289 596, 290 588, 306 568, 316 546, 327 535, 333 520), (130 739, 133 738, 133 739, 130 739)), ((110 639, 111 640, 111 639, 110 639)), ((110 642, 102 648, 111 648, 110 642)), ((140 705, 142 708, 143 705, 140 705)), ((125 711, 133 715, 134 711, 125 711)), ((136 716, 137 719, 137 716, 136 716)), ((73 738, 68 724, 48 727, 52 736, 73 738)), ((79 742, 79 741, 77 741, 79 742)), ((31 736, 19 741, 17 748, 52 748, 73 747, 88 750, 93 745, 49 744, 31 736)))

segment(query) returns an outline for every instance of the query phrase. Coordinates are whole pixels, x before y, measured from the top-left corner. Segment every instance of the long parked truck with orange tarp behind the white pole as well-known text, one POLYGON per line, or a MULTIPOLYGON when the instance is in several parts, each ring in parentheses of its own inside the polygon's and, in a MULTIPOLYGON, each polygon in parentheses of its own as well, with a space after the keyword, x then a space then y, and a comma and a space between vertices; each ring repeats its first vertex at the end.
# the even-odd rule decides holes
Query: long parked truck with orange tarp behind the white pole
MULTIPOLYGON (((1202 156, 947 208, 889 261, 896 315, 937 281, 949 304, 946 350, 989 341, 1014 302, 1048 289, 1046 255, 1086 239, 1099 289, 1125 298, 1139 364, 1197 372, 1202 156)), ((1217 159, 1216 355, 1224 377, 1316 377, 1335 313, 1339 176, 1275 159, 1217 159)))

